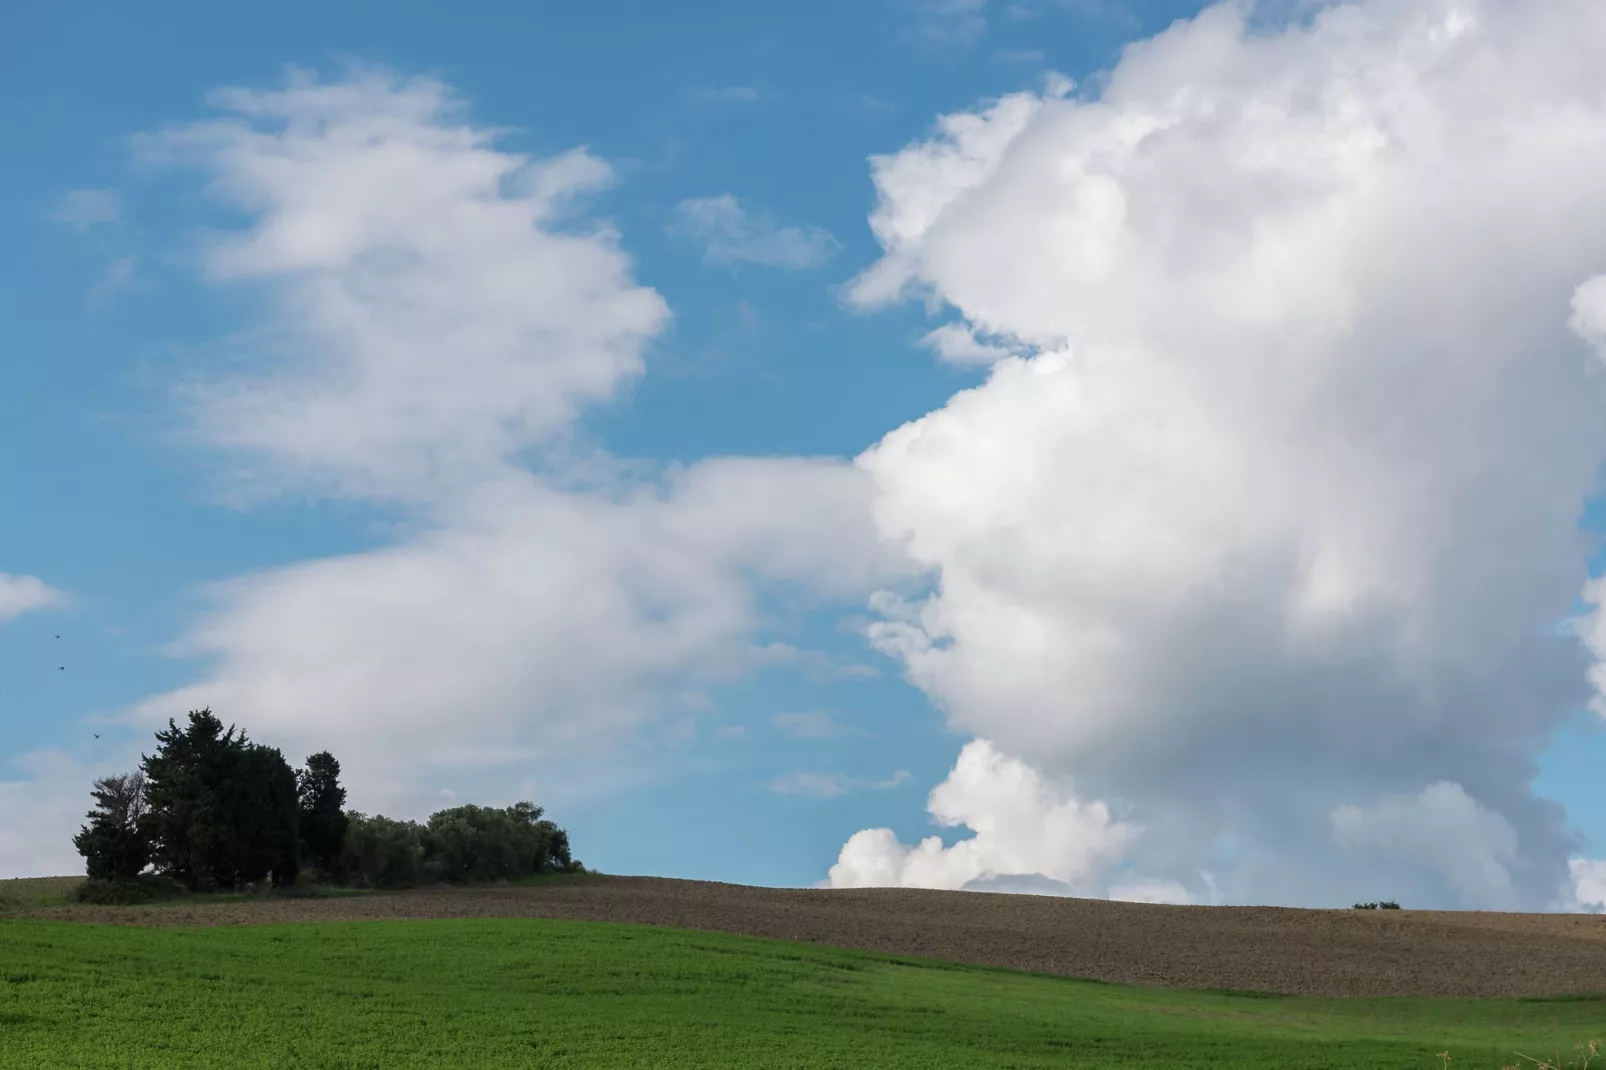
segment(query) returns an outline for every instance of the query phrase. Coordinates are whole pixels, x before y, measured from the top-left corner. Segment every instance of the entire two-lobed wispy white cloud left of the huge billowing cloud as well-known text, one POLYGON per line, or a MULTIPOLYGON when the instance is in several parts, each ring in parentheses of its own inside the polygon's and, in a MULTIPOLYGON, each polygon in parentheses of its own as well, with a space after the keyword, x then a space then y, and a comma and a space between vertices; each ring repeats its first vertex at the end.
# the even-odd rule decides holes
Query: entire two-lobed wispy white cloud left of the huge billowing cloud
POLYGON ((808 662, 774 655, 766 593, 861 599, 907 569, 838 459, 660 471, 565 443, 666 320, 575 214, 604 162, 501 151, 446 87, 382 72, 214 100, 222 119, 143 146, 246 214, 204 267, 265 297, 244 366, 191 392, 196 435, 252 492, 406 511, 393 545, 212 585, 175 644, 204 672, 135 723, 212 705, 292 755, 332 747, 365 807, 416 815, 467 771, 480 798, 551 782, 675 696, 808 662))

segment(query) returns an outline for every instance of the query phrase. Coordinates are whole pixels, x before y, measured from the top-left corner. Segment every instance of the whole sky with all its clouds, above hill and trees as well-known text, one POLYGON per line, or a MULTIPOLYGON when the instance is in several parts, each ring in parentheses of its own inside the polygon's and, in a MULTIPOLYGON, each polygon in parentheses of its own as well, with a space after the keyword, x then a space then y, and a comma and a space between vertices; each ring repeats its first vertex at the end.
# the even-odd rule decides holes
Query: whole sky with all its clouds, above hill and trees
POLYGON ((1603 48, 21 0, 0 877, 210 705, 605 872, 1606 911, 1603 48))

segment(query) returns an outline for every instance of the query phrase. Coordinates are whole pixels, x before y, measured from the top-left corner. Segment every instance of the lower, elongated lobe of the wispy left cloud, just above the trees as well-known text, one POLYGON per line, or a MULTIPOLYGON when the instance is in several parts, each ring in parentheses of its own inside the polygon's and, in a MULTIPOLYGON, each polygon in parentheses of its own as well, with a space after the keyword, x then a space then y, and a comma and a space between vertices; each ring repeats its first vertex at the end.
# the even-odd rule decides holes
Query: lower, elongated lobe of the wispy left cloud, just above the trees
POLYGON ((397 546, 217 585, 181 646, 209 678, 140 718, 212 704, 259 734, 361 739, 376 766, 442 733, 511 760, 517 739, 618 737, 761 660, 755 583, 869 583, 866 492, 806 459, 710 461, 623 498, 509 479, 397 546))

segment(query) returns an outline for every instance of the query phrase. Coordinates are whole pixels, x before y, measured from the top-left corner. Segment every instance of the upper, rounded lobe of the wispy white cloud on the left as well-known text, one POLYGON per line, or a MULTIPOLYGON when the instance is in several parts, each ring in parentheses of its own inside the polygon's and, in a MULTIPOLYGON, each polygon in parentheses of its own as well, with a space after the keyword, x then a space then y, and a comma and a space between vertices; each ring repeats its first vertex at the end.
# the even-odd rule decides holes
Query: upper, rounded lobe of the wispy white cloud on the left
POLYGON ((225 117, 143 149, 252 215, 206 267, 281 313, 251 371, 193 394, 204 440, 252 459, 267 490, 434 500, 641 373, 666 307, 612 230, 572 217, 610 182, 602 161, 499 151, 427 79, 297 76, 212 100, 225 117))

